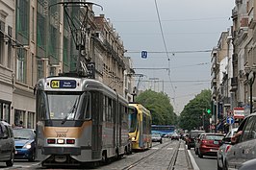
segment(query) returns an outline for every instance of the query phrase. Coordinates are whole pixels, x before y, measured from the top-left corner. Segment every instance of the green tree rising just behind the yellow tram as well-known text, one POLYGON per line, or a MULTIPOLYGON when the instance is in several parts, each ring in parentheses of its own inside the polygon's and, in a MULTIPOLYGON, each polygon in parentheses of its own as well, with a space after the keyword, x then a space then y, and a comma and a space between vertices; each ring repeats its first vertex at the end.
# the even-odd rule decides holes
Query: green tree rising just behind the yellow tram
POLYGON ((163 92, 155 92, 151 89, 145 90, 137 98, 136 102, 141 103, 152 114, 152 124, 174 125, 177 116, 173 112, 169 98, 163 92))

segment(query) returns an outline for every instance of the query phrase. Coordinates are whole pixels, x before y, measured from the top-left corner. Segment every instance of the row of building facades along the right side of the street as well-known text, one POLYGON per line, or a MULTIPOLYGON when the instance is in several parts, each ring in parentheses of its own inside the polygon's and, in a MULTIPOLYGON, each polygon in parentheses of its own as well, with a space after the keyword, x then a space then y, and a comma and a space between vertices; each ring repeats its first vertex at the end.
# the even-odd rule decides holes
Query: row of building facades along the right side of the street
POLYGON ((256 111, 256 0, 235 0, 233 24, 212 51, 213 123, 222 130, 229 116, 240 122, 256 111), (218 126, 219 125, 219 126, 218 126))

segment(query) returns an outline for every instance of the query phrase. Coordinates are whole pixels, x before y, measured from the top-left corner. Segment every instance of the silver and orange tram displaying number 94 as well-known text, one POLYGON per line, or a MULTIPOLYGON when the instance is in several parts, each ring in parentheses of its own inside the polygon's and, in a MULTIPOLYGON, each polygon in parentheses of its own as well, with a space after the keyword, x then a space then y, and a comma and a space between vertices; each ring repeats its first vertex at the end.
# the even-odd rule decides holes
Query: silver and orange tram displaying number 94
POLYGON ((106 162, 129 152, 128 102, 101 82, 40 79, 36 157, 42 166, 106 162))

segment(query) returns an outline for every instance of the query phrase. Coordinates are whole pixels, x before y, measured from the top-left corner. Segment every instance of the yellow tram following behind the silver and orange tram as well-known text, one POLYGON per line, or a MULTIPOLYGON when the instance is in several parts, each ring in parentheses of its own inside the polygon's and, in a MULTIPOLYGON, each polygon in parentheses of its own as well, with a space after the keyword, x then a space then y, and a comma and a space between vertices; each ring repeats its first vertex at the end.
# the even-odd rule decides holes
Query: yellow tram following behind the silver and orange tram
POLYGON ((129 136, 134 151, 152 147, 151 124, 152 117, 148 109, 139 103, 129 103, 129 136))

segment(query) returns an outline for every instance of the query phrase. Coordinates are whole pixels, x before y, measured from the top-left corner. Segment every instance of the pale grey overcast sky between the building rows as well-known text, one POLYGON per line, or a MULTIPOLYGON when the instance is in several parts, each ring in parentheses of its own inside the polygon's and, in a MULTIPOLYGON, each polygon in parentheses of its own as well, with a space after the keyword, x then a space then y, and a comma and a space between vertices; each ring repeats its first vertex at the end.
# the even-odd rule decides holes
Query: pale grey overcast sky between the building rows
POLYGON ((232 25, 235 0, 90 2, 103 7, 100 11, 94 6, 95 14, 110 18, 127 50, 125 56, 131 57, 136 73, 144 75, 140 89, 164 89, 179 114, 196 94, 211 88, 209 50, 232 25), (147 59, 141 59, 141 51, 147 51, 147 59))

